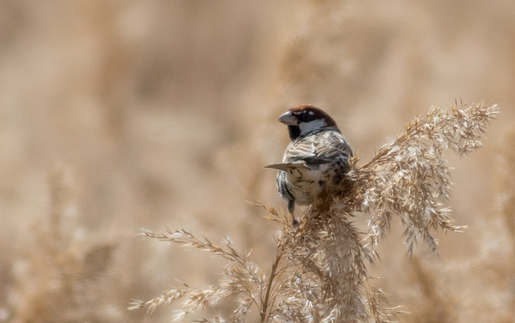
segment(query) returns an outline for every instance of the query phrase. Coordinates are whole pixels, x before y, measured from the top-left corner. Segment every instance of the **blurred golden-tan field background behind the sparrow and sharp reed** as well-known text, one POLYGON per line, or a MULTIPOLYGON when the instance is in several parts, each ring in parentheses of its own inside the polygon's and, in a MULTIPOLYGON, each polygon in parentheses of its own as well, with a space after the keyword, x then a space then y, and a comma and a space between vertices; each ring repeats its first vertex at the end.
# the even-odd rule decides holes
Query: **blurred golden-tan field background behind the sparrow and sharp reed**
POLYGON ((410 259, 394 227, 371 272, 400 321, 515 322, 515 2, 0 0, 0 45, 0 322, 169 321, 126 308, 219 261, 138 228, 228 235, 266 270, 278 228, 245 201, 285 208, 262 167, 288 107, 327 110, 364 163, 456 99, 501 106, 448 153, 469 228, 410 259))

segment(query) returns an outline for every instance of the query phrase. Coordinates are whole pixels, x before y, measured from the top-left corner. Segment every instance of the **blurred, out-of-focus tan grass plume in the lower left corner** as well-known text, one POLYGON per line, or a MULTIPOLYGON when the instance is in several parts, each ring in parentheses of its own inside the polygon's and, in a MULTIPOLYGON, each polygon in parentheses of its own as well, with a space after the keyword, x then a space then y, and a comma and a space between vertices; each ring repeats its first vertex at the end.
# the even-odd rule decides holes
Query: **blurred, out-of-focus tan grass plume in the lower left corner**
POLYGON ((56 168, 48 183, 48 216, 25 238, 13 266, 14 320, 127 322, 113 295, 121 285, 109 275, 115 243, 85 241, 67 169, 56 168))

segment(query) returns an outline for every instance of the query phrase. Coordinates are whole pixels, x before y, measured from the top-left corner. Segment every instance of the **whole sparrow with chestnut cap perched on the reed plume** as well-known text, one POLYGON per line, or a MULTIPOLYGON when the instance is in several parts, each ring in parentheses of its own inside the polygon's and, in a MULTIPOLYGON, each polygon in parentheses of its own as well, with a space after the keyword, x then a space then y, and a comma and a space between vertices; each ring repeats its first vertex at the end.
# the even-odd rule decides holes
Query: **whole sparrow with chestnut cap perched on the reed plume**
POLYGON ((279 170, 277 189, 296 226, 295 203, 313 204, 322 192, 331 193, 349 170, 352 149, 333 118, 318 107, 292 107, 279 121, 288 125, 291 142, 283 162, 265 168, 279 170))

